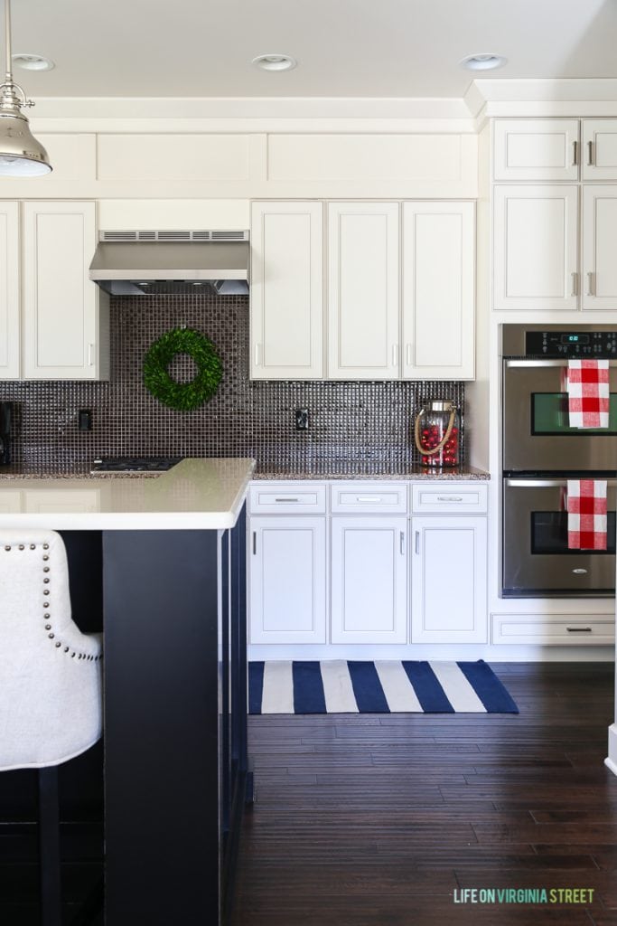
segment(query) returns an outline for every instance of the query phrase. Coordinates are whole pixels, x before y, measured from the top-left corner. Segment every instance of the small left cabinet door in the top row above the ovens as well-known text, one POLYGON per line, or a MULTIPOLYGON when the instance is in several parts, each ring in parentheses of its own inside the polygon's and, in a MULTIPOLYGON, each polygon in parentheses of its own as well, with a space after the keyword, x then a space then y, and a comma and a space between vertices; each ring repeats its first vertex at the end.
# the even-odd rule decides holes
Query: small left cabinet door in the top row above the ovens
POLYGON ((578 180, 578 119, 497 119, 497 181, 578 180))

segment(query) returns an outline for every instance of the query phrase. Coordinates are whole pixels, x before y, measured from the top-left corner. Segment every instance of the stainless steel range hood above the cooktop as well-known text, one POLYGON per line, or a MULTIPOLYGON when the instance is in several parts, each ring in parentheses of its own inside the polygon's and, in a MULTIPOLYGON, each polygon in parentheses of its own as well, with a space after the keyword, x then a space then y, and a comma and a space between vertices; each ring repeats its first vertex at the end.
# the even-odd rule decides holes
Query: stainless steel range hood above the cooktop
POLYGON ((90 279, 112 295, 249 292, 249 232, 99 232, 90 279))

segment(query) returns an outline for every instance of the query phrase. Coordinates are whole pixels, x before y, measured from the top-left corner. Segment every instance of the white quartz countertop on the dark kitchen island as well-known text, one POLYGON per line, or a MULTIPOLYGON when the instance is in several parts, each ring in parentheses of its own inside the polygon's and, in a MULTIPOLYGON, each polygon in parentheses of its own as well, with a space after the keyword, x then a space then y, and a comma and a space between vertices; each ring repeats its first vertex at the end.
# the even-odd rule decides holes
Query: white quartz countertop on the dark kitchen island
POLYGON ((0 528, 223 530, 238 519, 253 469, 252 459, 225 457, 183 459, 156 477, 3 480, 0 528))

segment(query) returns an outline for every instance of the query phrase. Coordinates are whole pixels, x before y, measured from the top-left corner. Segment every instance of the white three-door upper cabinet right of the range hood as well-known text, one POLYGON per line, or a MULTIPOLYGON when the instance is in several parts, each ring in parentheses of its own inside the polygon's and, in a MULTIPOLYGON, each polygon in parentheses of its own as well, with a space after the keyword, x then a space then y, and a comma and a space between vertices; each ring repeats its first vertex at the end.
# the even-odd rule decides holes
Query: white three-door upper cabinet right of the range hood
POLYGON ((253 379, 473 379, 474 204, 328 203, 326 265, 322 209, 253 203, 253 379))

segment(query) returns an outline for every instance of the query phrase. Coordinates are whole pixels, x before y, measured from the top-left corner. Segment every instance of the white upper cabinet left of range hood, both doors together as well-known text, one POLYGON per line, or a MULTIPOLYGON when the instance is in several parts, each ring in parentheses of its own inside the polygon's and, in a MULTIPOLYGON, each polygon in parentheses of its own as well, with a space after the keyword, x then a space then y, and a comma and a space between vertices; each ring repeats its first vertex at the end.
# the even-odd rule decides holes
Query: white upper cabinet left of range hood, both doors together
POLYGON ((0 379, 109 376, 106 294, 88 279, 93 203, 0 206, 0 379))

